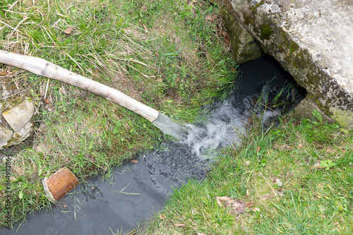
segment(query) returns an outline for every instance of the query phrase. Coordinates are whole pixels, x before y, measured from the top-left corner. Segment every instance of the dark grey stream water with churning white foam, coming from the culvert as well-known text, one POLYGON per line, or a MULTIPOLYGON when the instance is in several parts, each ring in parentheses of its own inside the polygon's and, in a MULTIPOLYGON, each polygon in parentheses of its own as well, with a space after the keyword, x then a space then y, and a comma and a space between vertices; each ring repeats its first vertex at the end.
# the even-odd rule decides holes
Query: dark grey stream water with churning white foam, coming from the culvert
MULTIPOLYGON (((250 61, 239 68, 237 91, 229 100, 206 107, 206 121, 187 124, 186 140, 165 142, 158 150, 137 155, 137 163, 129 162, 117 168, 109 182, 102 182, 102 176, 86 179, 61 198, 59 205, 53 205, 50 212, 37 212, 28 217, 17 234, 97 235, 112 234, 112 231, 124 234, 161 210, 173 188, 190 179, 205 179, 206 169, 215 158, 212 150, 230 142, 240 145, 250 116, 256 114, 268 120, 281 112, 280 109, 265 111, 264 105, 256 106, 254 100, 265 102, 263 93, 270 96, 269 100, 273 99, 271 96, 275 97, 292 80, 270 57, 250 61)), ((298 89, 291 89, 287 96, 294 100, 290 96, 298 89)), ((304 95, 294 96, 296 102, 304 98, 304 95)), ((15 231, 1 228, 0 234, 15 234, 15 231)))

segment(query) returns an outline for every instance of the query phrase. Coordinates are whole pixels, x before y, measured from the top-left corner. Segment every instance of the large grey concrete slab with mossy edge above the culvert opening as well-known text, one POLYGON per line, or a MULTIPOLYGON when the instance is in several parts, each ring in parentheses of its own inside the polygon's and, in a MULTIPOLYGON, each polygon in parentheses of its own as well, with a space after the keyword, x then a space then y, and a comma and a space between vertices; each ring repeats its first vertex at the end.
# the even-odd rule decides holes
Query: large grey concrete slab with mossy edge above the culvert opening
POLYGON ((353 1, 215 1, 306 88, 326 115, 353 128, 347 121, 353 112, 353 1))

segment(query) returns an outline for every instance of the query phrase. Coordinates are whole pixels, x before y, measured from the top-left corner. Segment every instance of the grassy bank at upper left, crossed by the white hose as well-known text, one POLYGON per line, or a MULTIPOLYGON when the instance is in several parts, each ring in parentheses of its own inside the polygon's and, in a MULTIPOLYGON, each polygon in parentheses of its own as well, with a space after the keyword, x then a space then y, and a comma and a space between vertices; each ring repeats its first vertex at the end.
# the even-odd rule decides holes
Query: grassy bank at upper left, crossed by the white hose
MULTIPOLYGON (((235 84, 237 65, 218 36, 217 11, 208 1, 3 1, 0 46, 47 59, 191 122, 199 107, 235 84)), ((41 180, 61 167, 80 179, 109 174, 112 165, 164 138, 149 121, 101 97, 18 68, 0 65, 0 71, 18 88, 6 100, 10 106, 35 103, 33 137, 20 150, 2 153, 11 155, 12 223, 49 207, 41 180)), ((5 172, 5 163, 0 168, 5 172)), ((0 205, 6 203, 5 183, 1 177, 0 205)), ((4 213, 1 208, 0 226, 4 213)))

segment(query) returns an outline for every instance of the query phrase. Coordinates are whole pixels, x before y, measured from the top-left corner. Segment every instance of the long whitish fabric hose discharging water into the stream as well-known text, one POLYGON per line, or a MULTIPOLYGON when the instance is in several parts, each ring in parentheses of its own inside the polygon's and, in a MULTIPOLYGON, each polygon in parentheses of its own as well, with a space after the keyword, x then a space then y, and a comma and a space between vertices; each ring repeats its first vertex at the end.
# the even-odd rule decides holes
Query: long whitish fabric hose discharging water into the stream
POLYGON ((100 95, 107 100, 115 102, 122 107, 126 107, 126 109, 136 112, 136 114, 143 116, 145 119, 148 119, 148 121, 152 122, 157 119, 157 110, 152 109, 137 100, 133 100, 133 98, 119 92, 119 90, 109 88, 107 85, 103 85, 102 83, 97 83, 94 80, 80 76, 77 73, 73 73, 65 68, 56 66, 55 64, 44 59, 40 59, 35 56, 23 56, 0 50, 0 64, 8 64, 18 68, 23 68, 37 75, 53 78, 64 83, 74 85, 78 88, 82 88, 83 90, 87 90, 96 95, 100 95))

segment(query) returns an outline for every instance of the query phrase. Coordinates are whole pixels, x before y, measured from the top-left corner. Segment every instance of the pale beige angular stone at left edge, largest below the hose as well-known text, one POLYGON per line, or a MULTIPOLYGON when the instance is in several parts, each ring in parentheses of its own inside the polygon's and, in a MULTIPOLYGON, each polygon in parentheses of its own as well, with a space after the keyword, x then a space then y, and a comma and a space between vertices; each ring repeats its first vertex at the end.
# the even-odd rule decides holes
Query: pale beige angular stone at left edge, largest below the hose
POLYGON ((33 102, 25 100, 7 112, 3 112, 4 119, 15 133, 18 133, 32 118, 35 106, 33 102))

